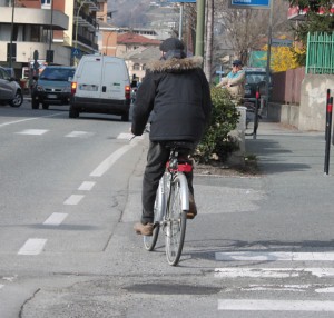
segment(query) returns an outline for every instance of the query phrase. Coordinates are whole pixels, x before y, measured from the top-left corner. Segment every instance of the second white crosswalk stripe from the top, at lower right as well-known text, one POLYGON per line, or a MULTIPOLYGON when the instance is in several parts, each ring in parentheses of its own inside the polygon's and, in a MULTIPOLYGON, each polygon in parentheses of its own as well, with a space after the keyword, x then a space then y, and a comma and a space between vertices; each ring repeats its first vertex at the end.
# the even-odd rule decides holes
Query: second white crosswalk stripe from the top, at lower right
POLYGON ((216 268, 215 277, 217 278, 237 278, 237 277, 266 277, 266 278, 285 278, 299 277, 310 272, 316 277, 334 277, 334 268, 216 268))

